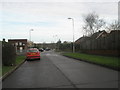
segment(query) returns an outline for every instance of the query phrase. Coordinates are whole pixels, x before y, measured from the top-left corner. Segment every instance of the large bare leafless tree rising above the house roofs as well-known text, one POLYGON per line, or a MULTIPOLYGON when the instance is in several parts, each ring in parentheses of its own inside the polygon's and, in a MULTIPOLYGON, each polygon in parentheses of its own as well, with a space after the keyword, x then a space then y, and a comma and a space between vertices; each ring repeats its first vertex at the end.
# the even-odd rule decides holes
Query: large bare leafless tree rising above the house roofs
POLYGON ((84 16, 84 22, 85 25, 83 26, 83 30, 87 35, 92 35, 106 24, 96 13, 89 13, 84 16))

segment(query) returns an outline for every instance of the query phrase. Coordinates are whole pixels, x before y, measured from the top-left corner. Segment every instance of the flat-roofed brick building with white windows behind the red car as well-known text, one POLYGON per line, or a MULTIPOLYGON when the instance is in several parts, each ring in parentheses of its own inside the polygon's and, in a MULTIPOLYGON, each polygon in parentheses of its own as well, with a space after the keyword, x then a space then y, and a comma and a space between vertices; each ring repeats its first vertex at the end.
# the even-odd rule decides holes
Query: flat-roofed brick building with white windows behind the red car
POLYGON ((27 50, 27 39, 8 39, 8 42, 16 47, 17 53, 25 53, 27 50))

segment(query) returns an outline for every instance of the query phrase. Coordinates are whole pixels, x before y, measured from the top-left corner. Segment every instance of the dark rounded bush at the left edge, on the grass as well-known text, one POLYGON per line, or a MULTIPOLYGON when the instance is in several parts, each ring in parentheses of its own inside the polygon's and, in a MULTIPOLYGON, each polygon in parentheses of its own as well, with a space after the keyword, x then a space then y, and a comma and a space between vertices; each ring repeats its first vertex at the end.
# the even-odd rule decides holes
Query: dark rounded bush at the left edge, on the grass
POLYGON ((16 51, 15 47, 10 43, 2 43, 2 63, 5 66, 10 66, 15 64, 16 51))

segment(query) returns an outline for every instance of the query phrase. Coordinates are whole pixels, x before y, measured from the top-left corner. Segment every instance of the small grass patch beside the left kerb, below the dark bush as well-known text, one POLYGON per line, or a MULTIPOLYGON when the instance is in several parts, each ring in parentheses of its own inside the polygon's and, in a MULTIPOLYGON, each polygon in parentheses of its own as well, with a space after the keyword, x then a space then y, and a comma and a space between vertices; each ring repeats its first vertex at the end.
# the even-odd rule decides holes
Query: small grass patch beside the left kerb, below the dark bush
MULTIPOLYGON (((22 63, 25 60, 25 56, 16 57, 16 66, 22 63)), ((16 66, 2 66, 2 75, 14 69, 16 66)))

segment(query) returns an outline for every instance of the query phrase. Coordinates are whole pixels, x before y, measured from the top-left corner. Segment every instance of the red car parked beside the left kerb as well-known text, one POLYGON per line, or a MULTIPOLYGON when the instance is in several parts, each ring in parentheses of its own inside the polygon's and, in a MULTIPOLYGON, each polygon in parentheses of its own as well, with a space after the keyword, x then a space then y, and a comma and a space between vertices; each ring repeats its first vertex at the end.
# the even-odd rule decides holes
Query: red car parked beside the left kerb
POLYGON ((27 50, 26 59, 39 59, 40 60, 40 52, 37 48, 30 48, 27 50))

